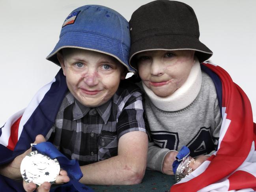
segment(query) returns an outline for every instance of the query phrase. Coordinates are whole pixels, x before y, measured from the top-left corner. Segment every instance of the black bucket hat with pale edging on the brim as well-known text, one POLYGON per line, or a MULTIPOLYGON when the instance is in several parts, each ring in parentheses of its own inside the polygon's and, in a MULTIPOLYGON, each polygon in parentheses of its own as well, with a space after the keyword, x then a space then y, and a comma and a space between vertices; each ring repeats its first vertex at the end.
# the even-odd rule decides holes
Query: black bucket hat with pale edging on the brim
POLYGON ((185 3, 156 0, 139 7, 129 21, 133 56, 146 50, 195 50, 200 63, 213 52, 199 41, 199 26, 194 10, 185 3))

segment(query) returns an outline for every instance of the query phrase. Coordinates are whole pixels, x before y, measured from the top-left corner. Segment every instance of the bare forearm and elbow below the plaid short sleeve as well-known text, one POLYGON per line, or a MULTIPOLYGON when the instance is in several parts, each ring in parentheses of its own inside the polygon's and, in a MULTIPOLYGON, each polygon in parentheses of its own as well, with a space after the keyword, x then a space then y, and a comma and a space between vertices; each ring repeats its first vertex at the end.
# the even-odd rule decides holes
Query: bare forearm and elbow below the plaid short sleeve
POLYGON ((121 136, 118 155, 81 166, 81 183, 91 185, 134 185, 142 181, 146 170, 148 136, 145 132, 129 132, 121 136))

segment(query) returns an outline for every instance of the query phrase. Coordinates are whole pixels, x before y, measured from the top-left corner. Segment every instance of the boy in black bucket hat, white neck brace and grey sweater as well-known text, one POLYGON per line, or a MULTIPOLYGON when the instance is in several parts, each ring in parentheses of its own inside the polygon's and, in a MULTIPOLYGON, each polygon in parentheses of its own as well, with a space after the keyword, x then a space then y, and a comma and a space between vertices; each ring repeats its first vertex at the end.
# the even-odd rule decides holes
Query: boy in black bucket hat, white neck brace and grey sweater
POLYGON ((215 85, 200 68, 213 53, 199 41, 196 15, 182 2, 156 0, 139 7, 129 25, 129 62, 142 80, 152 136, 147 166, 173 174, 186 145, 197 157, 194 170, 215 152, 222 123, 215 85))

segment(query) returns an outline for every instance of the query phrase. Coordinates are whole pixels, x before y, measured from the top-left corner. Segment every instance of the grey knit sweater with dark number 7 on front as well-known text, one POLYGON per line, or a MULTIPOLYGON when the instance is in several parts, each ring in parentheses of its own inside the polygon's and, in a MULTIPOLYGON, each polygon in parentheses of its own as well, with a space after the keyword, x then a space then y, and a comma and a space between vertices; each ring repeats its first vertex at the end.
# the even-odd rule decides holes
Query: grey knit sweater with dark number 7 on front
MULTIPOLYGON (((145 94, 146 95, 146 94, 145 94)), ((163 111, 145 96, 145 109, 151 131, 147 167, 162 172, 165 155, 189 147, 191 156, 212 154, 218 144, 222 123, 215 86, 202 72, 202 86, 189 106, 174 112, 163 111)))

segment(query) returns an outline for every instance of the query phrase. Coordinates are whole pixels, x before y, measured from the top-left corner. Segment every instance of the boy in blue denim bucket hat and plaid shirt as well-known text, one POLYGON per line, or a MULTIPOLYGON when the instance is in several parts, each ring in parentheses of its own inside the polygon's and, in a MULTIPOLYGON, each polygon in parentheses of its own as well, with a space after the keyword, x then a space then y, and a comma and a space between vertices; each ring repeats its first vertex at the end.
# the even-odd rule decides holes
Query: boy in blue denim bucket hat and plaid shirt
MULTIPOLYGON (((144 176, 148 136, 142 93, 125 80, 128 71, 135 71, 128 62, 129 48, 125 18, 108 7, 87 5, 65 19, 60 39, 47 56, 47 60, 62 67, 39 102, 43 106, 56 98, 50 106, 40 109, 49 109, 44 115, 52 114, 49 118, 54 116, 54 122, 30 138, 36 143, 47 140, 66 157, 78 160, 84 173, 81 183, 132 185, 140 183, 144 176), (38 134, 42 135, 36 137, 38 134)), ((19 178, 20 173, 15 171, 20 167, 17 158, 22 160, 27 153, 20 153, 1 174, 19 178)), ((56 183, 68 179, 64 171, 56 183)), ((37 191, 49 191, 49 185, 43 183, 37 191)), ((24 188, 34 191, 36 185, 26 183, 24 188)))

